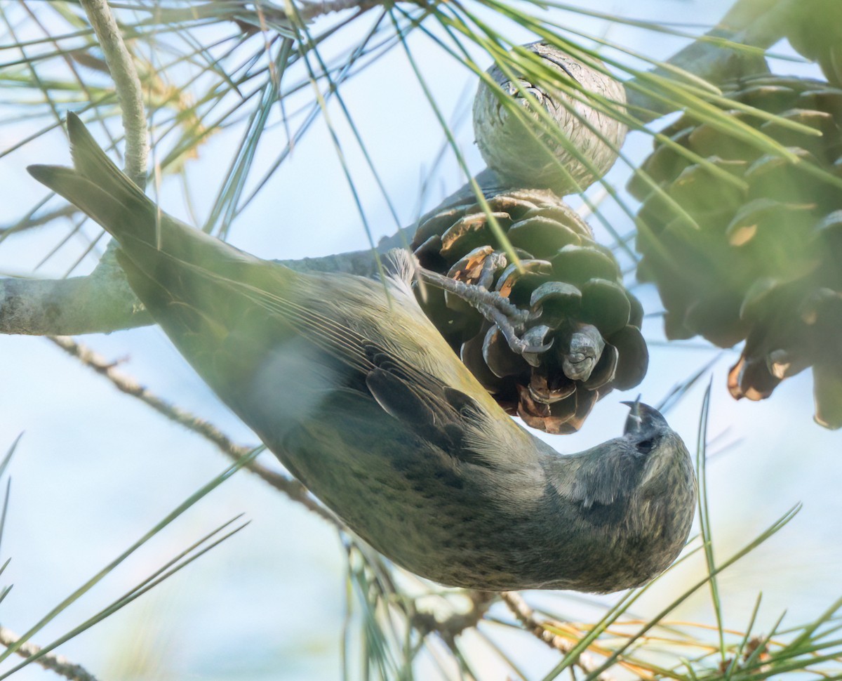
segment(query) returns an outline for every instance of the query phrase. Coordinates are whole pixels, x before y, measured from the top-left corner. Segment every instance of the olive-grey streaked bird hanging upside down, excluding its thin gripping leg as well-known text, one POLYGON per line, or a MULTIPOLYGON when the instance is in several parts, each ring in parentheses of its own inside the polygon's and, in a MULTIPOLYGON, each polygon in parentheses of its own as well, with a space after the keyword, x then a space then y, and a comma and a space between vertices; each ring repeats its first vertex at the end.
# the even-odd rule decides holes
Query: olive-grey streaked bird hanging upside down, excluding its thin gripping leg
POLYGON ((348 528, 397 566, 488 592, 639 587, 679 555, 690 454, 631 403, 621 437, 559 453, 502 410, 413 294, 293 271, 169 216, 67 115, 72 168, 33 165, 119 244, 131 288, 195 371, 348 528))

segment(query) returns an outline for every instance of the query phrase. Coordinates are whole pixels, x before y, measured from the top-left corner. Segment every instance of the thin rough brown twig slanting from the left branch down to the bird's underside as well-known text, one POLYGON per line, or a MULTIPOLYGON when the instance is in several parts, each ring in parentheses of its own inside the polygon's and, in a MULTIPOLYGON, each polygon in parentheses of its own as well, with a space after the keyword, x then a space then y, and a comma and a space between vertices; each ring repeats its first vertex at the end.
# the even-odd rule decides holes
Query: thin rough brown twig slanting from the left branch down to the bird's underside
MULTIPOLYGON (((231 438, 227 437, 225 433, 221 432, 213 424, 152 394, 152 392, 144 388, 140 383, 137 383, 133 378, 120 373, 116 369, 114 362, 107 362, 104 357, 80 345, 72 338, 67 338, 66 336, 48 336, 48 339, 67 352, 67 354, 76 357, 86 367, 90 367, 96 373, 108 378, 116 389, 140 399, 141 402, 151 406, 159 414, 163 414, 163 416, 166 416, 171 421, 175 421, 188 430, 205 437, 206 440, 213 442, 216 448, 234 461, 237 461, 253 450, 252 447, 234 444, 231 438)), ((334 516, 327 508, 320 506, 312 499, 306 487, 301 485, 298 480, 293 480, 285 475, 280 475, 280 473, 275 473, 273 470, 255 461, 247 464, 246 468, 253 474, 258 475, 264 482, 272 485, 274 489, 283 492, 293 501, 298 501, 308 511, 316 513, 338 528, 344 527, 338 517, 334 516)))

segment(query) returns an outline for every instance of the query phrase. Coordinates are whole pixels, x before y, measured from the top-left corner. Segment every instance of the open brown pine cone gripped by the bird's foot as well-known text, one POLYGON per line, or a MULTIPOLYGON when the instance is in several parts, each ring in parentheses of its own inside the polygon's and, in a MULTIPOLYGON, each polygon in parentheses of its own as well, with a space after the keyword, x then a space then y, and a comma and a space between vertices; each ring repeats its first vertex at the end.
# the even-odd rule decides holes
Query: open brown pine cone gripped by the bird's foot
POLYGON ((509 263, 474 201, 424 216, 413 250, 425 268, 497 291, 535 312, 524 338, 549 348, 515 353, 496 325, 432 287, 422 305, 510 414, 546 432, 575 432, 597 399, 614 388, 632 388, 645 375, 641 305, 622 286, 610 250, 594 242, 588 225, 557 196, 514 190, 487 200, 522 271, 509 263))

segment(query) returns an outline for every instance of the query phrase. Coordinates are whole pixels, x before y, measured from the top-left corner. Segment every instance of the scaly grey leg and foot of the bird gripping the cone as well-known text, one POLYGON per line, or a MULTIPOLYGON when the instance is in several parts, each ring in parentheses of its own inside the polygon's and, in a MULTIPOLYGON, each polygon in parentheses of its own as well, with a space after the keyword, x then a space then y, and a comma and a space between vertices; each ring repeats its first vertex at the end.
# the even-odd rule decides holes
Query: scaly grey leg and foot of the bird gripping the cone
POLYGON ((528 322, 541 316, 540 311, 522 310, 509 303, 498 292, 488 291, 486 287, 476 284, 457 282, 449 276, 426 270, 424 267, 418 267, 417 272, 424 282, 461 298, 482 314, 485 319, 497 324, 509 347, 518 355, 546 352, 552 346, 552 340, 549 344, 543 345, 541 344, 542 338, 530 337, 534 335, 530 335, 526 330, 528 322))

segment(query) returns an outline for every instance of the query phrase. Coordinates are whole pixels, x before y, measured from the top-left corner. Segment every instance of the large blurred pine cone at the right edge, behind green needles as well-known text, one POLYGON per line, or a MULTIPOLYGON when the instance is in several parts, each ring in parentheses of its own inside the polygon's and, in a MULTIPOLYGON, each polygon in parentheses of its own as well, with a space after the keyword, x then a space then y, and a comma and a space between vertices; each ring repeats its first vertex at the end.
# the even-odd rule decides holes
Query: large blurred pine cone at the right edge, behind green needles
POLYGON ((629 190, 638 213, 638 278, 658 285, 670 339, 746 340, 728 389, 769 397, 813 366, 816 420, 842 426, 842 89, 764 74, 723 88, 736 102, 807 126, 808 134, 734 107, 800 161, 691 115, 663 130, 629 190), (705 159, 696 163, 674 145, 705 159), (706 165, 705 165, 706 164, 706 165), (834 176, 827 179, 817 170, 834 176), (728 181, 730 177, 738 182, 728 181))

